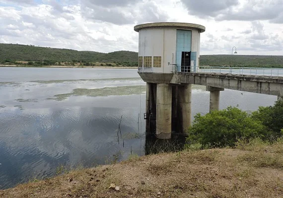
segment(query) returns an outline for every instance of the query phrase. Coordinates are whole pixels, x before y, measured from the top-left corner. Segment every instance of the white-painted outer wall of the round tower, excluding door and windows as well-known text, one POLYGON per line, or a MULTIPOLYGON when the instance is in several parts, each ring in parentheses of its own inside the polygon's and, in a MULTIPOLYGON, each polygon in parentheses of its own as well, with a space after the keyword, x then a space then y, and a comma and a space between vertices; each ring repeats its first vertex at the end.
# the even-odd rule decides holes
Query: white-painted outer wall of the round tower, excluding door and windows
MULTIPOLYGON (((178 28, 178 30, 192 31, 192 51, 197 52, 197 57, 200 56, 200 32, 192 28, 178 28)), ((176 44, 177 44, 177 28, 153 27, 144 28, 139 31, 139 56, 161 56, 160 67, 143 67, 141 72, 157 72, 171 73, 172 65, 176 64, 176 44)), ((197 64, 198 63, 197 58, 197 64)))

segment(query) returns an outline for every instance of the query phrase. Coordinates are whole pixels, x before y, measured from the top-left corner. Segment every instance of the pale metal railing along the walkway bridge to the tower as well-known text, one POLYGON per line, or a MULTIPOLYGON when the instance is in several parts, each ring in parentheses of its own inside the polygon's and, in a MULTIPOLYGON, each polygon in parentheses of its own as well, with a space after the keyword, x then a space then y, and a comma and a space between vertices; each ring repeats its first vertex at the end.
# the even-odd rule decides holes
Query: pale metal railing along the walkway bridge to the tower
POLYGON ((213 66, 182 66, 181 72, 191 73, 214 73, 222 75, 252 75, 283 77, 283 69, 280 68, 255 68, 255 67, 213 67, 213 66))

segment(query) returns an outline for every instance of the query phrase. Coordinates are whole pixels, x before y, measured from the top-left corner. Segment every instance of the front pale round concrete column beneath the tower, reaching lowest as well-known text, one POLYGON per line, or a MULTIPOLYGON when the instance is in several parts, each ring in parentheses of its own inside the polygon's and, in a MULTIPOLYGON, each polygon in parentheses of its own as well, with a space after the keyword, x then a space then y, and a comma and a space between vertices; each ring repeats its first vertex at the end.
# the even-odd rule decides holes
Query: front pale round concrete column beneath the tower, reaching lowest
POLYGON ((156 94, 156 136, 170 139, 172 128, 172 86, 157 84, 156 94))

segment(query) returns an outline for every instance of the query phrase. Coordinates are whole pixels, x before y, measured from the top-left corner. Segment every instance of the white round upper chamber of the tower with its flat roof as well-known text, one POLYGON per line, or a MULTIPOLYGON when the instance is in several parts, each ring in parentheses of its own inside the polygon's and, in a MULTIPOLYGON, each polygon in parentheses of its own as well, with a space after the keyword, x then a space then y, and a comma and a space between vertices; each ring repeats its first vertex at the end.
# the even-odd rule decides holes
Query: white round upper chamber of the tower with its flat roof
POLYGON ((204 26, 162 22, 141 24, 134 29, 139 32, 141 72, 181 72, 199 65, 200 34, 205 31, 204 26))

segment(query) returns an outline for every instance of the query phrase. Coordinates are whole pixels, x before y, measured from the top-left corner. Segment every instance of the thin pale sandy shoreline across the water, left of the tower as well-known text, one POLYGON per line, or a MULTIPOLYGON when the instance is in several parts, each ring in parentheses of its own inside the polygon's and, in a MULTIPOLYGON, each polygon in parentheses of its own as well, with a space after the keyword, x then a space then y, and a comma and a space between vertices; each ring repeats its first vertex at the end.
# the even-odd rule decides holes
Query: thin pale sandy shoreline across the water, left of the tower
POLYGON ((24 66, 24 65, 0 65, 0 67, 32 67, 32 68, 94 68, 94 69, 138 69, 138 67, 108 67, 108 66, 64 66, 64 65, 47 65, 47 66, 24 66))

